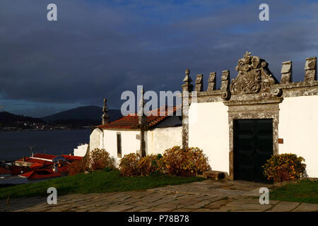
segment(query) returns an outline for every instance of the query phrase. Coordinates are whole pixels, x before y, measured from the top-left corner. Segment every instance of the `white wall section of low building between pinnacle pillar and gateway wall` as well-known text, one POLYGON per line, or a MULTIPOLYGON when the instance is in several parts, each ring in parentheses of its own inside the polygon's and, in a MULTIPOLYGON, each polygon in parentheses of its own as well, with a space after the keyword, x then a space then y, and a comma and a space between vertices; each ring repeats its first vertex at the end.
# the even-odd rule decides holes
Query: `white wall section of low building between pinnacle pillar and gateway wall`
POLYGON ((146 153, 163 154, 167 148, 182 145, 182 126, 156 128, 146 131, 146 153))

